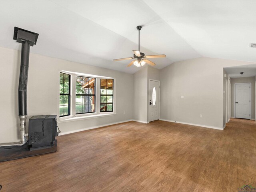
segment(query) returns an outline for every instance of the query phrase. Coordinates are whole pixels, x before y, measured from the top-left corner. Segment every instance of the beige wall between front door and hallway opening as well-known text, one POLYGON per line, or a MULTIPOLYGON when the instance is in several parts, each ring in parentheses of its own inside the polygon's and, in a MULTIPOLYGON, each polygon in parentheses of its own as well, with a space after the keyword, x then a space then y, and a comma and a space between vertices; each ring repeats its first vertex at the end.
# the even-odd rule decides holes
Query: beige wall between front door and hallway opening
POLYGON ((246 64, 254 63, 201 57, 163 68, 160 70, 160 119, 222 129, 223 68, 246 64))

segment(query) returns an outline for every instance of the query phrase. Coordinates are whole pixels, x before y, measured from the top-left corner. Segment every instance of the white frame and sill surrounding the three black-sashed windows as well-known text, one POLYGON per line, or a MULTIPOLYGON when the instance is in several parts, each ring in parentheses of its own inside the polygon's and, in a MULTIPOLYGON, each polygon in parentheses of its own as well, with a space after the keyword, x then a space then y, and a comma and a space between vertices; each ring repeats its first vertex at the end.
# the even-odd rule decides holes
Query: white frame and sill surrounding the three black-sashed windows
MULTIPOLYGON (((75 121, 75 120, 83 120, 89 118, 98 118, 104 116, 112 116, 116 115, 116 78, 112 77, 105 77, 105 76, 97 76, 91 74, 82 74, 77 72, 69 72, 59 70, 60 72, 66 73, 70 75, 70 115, 60 117, 60 91, 58 90, 58 121, 59 122, 68 122, 68 121, 75 121), (84 113, 84 114, 76 114, 76 76, 85 76, 89 78, 96 78, 96 88, 95 88, 95 95, 96 95, 96 107, 95 112, 93 113, 84 113), (114 100, 113 100, 113 112, 100 112, 100 79, 113 79, 114 80, 114 100)), ((59 87, 60 82, 58 82, 59 87)))

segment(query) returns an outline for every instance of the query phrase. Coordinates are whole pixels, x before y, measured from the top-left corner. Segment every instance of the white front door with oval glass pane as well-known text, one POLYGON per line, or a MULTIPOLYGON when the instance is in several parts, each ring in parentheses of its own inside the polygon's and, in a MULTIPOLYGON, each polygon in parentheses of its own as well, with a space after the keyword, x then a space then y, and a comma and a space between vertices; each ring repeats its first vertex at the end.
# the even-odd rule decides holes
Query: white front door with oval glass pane
POLYGON ((159 120, 160 82, 149 81, 149 121, 159 120))

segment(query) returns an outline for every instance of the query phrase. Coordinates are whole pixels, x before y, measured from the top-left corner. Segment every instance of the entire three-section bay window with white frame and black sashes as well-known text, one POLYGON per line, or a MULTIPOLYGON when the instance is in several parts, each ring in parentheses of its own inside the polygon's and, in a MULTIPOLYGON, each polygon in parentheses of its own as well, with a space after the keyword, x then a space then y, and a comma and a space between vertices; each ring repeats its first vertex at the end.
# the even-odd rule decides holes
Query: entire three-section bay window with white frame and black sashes
POLYGON ((114 81, 111 77, 61 71, 59 120, 116 115, 114 81))

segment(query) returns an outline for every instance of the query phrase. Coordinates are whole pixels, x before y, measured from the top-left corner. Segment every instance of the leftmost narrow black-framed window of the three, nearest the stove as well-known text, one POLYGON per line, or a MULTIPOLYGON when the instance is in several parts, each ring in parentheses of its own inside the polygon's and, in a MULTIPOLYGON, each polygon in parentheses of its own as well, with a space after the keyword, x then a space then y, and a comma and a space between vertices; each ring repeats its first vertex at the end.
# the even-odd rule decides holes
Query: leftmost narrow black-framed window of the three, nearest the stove
POLYGON ((60 117, 70 115, 70 75, 60 73, 60 117))

